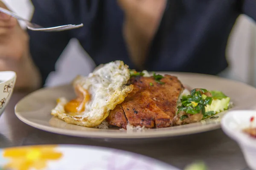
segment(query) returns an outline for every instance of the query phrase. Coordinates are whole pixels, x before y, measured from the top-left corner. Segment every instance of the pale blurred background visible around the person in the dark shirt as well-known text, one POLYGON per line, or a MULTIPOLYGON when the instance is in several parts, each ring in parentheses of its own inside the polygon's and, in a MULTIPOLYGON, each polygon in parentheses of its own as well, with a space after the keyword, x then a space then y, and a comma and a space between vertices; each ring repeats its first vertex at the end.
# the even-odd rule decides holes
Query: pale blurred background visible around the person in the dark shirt
MULTIPOLYGON (((3 0, 3 2, 17 14, 26 19, 31 18, 33 6, 30 0, 3 0)), ((23 26, 22 23, 20 24, 23 26)), ((247 16, 241 15, 238 18, 230 34, 227 59, 230 67, 220 74, 221 77, 256 87, 256 26, 247 16)), ((48 86, 69 83, 77 74, 87 75, 93 70, 95 63, 77 40, 73 39, 70 40, 55 67, 56 71, 47 79, 48 86)))

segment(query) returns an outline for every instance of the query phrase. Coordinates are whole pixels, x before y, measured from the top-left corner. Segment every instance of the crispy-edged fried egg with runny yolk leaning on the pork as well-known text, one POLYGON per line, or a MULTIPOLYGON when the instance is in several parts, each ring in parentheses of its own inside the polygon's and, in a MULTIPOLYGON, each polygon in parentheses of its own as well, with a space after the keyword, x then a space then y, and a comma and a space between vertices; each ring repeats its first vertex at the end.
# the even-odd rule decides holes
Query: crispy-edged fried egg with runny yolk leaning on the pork
POLYGON ((96 127, 133 90, 133 85, 126 85, 129 79, 129 68, 122 61, 99 65, 87 77, 73 80, 76 99, 57 99, 51 114, 70 124, 96 127))

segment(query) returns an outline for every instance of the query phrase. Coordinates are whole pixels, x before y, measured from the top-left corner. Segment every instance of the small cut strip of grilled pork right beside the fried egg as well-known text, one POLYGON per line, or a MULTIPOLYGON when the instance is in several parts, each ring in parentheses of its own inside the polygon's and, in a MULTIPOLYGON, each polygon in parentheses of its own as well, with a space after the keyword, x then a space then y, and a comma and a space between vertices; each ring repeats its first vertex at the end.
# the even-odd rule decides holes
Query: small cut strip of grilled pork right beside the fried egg
POLYGON ((127 125, 127 119, 125 117, 125 112, 122 108, 122 105, 116 105, 116 108, 112 111, 110 111, 108 117, 106 118, 106 121, 110 125, 118 126, 121 128, 126 128, 127 125))

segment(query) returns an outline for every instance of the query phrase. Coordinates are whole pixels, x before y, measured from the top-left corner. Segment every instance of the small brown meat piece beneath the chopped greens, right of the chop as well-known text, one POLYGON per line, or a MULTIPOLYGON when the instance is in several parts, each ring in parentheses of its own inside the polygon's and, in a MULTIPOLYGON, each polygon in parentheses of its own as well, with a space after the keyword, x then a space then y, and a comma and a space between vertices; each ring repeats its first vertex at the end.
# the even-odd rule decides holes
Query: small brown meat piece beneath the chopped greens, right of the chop
POLYGON ((203 119, 203 114, 202 113, 197 113, 197 114, 187 114, 184 111, 180 111, 174 119, 173 119, 173 124, 174 125, 184 125, 184 124, 189 124, 189 123, 195 123, 195 122, 200 122, 203 119), (181 116, 185 115, 186 117, 184 119, 180 119, 181 116))

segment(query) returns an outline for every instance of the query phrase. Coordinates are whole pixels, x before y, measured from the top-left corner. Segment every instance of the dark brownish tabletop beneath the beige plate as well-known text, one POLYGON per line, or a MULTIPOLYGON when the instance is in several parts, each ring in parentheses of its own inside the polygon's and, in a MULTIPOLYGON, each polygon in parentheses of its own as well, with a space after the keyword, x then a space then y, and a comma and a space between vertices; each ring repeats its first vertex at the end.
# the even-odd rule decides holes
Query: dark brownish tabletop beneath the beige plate
POLYGON ((204 161, 210 170, 244 170, 247 167, 238 144, 226 136, 221 129, 161 141, 131 144, 64 136, 38 130, 21 122, 15 116, 14 107, 25 95, 25 93, 14 93, 0 117, 0 147, 84 144, 139 153, 180 169, 197 160, 204 161))

